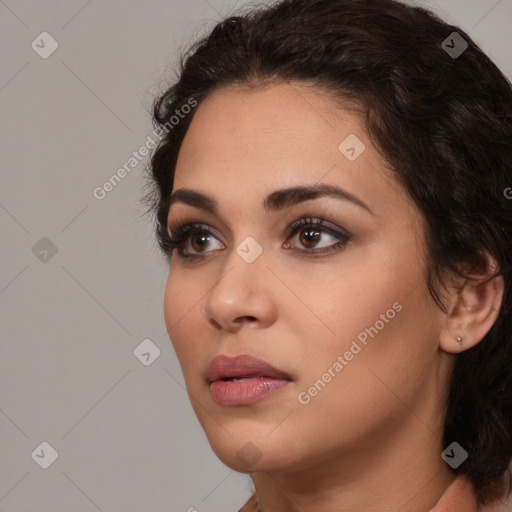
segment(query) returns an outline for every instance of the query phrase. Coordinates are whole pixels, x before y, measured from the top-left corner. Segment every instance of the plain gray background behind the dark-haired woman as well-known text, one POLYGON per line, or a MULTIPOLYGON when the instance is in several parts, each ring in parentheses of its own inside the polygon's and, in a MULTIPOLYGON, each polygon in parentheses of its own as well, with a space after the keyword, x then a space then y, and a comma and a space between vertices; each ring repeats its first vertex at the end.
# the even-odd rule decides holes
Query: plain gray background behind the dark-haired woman
MULTIPOLYGON (((92 193, 151 133, 178 47, 243 3, 0 0, 3 512, 229 512, 251 494, 183 388, 139 202, 146 162, 92 193), (43 31, 59 45, 47 59, 31 47, 43 31), (33 250, 44 237, 54 255, 33 250), (145 339, 161 351, 148 366, 134 355, 145 339), (58 452, 47 469, 43 441, 58 452)), ((512 76, 512 0, 423 4, 512 76)))

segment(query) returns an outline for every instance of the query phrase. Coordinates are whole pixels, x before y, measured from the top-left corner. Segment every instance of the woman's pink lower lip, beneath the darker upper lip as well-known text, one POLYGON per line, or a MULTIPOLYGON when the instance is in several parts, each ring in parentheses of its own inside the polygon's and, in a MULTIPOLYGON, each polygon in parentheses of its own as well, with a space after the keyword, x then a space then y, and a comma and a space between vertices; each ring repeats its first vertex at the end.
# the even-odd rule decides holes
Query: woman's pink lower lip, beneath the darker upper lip
POLYGON ((261 400, 274 391, 285 387, 290 381, 282 379, 216 380, 210 384, 213 399, 222 405, 248 405, 261 400))

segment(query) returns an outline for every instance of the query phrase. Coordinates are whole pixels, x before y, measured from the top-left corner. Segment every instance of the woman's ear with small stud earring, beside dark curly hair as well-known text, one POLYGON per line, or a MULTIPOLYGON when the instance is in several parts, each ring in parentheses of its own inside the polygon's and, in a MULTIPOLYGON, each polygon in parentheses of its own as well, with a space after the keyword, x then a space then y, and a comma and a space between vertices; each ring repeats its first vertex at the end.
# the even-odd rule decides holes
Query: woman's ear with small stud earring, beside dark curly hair
POLYGON ((498 317, 503 301, 503 277, 491 278, 498 268, 487 256, 487 274, 470 274, 468 279, 457 276, 448 288, 450 297, 445 303, 448 313, 444 318, 439 343, 443 350, 458 353, 474 347, 490 331, 498 317), (462 338, 462 348, 459 340, 462 338))

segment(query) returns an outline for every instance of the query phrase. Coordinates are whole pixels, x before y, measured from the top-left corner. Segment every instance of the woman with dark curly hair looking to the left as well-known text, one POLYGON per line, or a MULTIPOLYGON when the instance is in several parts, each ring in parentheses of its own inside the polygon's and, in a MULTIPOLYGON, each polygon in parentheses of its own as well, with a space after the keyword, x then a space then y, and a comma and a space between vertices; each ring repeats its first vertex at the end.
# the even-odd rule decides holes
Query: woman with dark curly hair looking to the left
POLYGON ((282 0, 198 41, 154 121, 165 321, 241 510, 507 498, 512 91, 470 37, 282 0))

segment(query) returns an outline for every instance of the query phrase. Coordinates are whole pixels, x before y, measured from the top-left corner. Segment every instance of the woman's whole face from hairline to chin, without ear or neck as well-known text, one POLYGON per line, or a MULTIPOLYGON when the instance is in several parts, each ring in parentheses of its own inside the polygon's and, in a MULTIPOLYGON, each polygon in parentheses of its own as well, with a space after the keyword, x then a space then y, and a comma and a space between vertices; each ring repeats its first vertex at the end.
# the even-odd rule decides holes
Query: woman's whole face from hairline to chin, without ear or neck
POLYGON ((173 194, 184 189, 216 207, 171 205, 173 236, 200 226, 173 252, 165 321, 225 464, 369 463, 441 426, 449 365, 423 223, 355 114, 300 84, 219 89, 180 150, 173 194), (345 196, 307 193, 317 187, 345 196))

